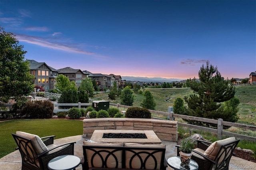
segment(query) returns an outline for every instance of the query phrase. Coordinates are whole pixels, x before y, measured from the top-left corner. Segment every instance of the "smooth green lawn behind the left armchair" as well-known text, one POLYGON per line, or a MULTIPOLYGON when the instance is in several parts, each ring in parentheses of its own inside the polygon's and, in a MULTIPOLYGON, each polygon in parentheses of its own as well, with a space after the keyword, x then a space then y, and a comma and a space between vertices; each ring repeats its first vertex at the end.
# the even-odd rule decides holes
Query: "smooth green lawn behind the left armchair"
POLYGON ((31 119, 0 122, 0 158, 15 151, 12 137, 16 131, 37 134, 40 137, 55 135, 54 139, 83 134, 83 121, 66 119, 31 119))

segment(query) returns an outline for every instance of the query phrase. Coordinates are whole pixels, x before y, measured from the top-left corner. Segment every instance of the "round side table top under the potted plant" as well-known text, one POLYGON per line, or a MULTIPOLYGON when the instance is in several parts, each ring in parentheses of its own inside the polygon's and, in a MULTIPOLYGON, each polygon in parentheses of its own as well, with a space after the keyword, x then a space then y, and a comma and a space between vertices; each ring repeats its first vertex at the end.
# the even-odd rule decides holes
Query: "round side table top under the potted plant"
POLYGON ((173 156, 167 159, 167 164, 174 168, 174 170, 198 170, 198 164, 194 160, 190 160, 187 166, 180 162, 180 156, 173 156))

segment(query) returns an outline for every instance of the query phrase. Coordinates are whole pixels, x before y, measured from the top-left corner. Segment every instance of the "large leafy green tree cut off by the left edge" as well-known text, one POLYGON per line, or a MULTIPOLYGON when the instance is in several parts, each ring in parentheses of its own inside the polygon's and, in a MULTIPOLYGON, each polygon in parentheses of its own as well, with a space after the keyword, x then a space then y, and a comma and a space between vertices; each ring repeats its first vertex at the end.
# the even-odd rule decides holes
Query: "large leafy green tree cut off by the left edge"
POLYGON ((33 76, 23 48, 14 34, 0 27, 0 102, 11 98, 22 102, 33 91, 33 76))

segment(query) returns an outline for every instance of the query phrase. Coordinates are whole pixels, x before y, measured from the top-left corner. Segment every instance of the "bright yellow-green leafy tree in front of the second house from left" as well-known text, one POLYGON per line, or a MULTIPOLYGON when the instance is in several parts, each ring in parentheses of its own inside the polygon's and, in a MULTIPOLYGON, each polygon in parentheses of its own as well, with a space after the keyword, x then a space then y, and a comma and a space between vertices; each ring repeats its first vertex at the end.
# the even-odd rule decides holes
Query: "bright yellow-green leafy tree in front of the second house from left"
POLYGON ((68 77, 63 74, 57 75, 55 87, 59 93, 68 90, 77 91, 76 83, 74 81, 70 81, 68 77))

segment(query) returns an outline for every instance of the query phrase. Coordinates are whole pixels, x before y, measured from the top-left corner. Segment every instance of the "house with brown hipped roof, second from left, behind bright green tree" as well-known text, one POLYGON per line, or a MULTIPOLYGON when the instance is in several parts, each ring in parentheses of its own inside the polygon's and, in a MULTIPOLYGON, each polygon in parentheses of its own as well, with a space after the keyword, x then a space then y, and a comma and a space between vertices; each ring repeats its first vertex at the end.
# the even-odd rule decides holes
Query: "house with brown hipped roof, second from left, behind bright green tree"
POLYGON ((59 74, 62 74, 68 77, 70 81, 74 81, 77 87, 79 87, 80 83, 82 82, 82 79, 88 77, 89 75, 88 73, 85 73, 80 69, 73 69, 71 67, 58 69, 58 71, 59 71, 59 74))

